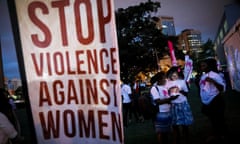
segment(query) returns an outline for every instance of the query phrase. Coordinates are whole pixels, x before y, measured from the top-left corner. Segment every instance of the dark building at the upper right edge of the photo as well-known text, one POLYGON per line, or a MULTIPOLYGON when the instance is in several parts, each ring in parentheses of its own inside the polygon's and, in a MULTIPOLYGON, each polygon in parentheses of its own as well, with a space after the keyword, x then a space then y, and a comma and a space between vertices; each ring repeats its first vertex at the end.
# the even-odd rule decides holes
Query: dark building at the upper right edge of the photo
POLYGON ((224 13, 222 15, 214 40, 214 50, 216 51, 217 59, 220 61, 220 64, 223 66, 223 68, 227 65, 225 50, 223 46, 223 39, 239 18, 239 4, 229 4, 224 7, 224 13))

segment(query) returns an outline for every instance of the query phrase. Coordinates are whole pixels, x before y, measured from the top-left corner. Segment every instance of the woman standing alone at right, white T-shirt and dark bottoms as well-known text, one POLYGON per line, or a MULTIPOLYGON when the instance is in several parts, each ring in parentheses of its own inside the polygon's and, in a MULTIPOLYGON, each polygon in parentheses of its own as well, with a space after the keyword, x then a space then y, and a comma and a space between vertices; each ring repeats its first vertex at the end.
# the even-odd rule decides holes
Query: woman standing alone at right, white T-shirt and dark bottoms
POLYGON ((225 80, 217 71, 215 59, 206 59, 200 62, 200 70, 203 73, 200 81, 200 96, 202 112, 205 114, 213 129, 213 136, 209 139, 221 142, 226 134, 225 103, 222 92, 225 91, 225 80))

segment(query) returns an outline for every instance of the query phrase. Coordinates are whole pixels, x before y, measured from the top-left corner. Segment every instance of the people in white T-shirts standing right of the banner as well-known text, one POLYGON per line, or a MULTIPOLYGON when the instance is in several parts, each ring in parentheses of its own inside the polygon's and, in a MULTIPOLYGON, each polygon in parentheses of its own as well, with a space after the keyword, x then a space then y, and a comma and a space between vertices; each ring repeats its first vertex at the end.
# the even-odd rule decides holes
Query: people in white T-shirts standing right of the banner
MULTIPOLYGON (((227 125, 224 118, 223 92, 226 90, 224 77, 217 69, 215 59, 205 59, 198 63, 200 77, 196 79, 202 103, 202 113, 212 126, 212 135, 206 143, 223 143, 226 139, 227 125)), ((128 127, 132 115, 136 122, 141 117, 141 92, 130 81, 124 81, 121 87, 123 97, 123 121, 128 127)), ((142 89, 145 87, 142 87, 142 89)), ((183 70, 178 66, 167 72, 158 72, 151 79, 148 89, 158 113, 153 119, 158 144, 188 144, 189 126, 194 122, 191 106, 188 102, 190 87, 184 80, 183 70), (171 139, 170 139, 171 138, 171 139)))

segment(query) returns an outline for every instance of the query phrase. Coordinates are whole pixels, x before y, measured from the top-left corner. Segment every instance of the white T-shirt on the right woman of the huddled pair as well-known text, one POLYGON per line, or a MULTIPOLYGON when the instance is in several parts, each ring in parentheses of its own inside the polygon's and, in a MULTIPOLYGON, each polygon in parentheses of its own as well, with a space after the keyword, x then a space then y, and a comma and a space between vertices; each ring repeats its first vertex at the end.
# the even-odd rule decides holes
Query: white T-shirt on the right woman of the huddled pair
MULTIPOLYGON (((188 87, 187 87, 186 81, 182 80, 182 79, 168 81, 166 86, 168 89, 170 89, 171 87, 177 87, 179 89, 179 91, 188 92, 188 87)), ((174 96, 174 95, 179 95, 179 96, 175 100, 172 100, 171 101, 172 103, 182 103, 182 102, 187 101, 187 97, 184 96, 180 92, 170 93, 170 96, 174 96)))

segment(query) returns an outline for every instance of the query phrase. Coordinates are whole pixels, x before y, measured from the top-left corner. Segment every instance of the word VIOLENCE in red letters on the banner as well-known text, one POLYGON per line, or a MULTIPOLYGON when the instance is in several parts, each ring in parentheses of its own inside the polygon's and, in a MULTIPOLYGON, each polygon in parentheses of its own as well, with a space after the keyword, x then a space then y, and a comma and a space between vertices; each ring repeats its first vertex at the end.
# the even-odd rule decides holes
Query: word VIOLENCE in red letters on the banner
POLYGON ((32 62, 37 76, 61 76, 83 74, 117 74, 117 49, 102 48, 99 51, 77 50, 74 54, 54 52, 32 53, 32 62), (76 64, 76 65, 74 65, 76 64))

